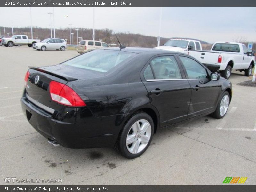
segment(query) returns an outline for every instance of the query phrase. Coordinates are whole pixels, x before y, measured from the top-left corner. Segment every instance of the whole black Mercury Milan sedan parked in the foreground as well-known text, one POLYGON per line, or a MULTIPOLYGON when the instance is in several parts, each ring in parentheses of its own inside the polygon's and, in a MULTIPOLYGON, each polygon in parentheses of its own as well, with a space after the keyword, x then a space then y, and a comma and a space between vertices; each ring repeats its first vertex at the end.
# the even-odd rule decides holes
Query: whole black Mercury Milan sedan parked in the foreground
POLYGON ((115 147, 140 156, 157 129, 225 116, 231 83, 193 57, 147 48, 106 48, 30 67, 21 98, 29 123, 50 143, 115 147))

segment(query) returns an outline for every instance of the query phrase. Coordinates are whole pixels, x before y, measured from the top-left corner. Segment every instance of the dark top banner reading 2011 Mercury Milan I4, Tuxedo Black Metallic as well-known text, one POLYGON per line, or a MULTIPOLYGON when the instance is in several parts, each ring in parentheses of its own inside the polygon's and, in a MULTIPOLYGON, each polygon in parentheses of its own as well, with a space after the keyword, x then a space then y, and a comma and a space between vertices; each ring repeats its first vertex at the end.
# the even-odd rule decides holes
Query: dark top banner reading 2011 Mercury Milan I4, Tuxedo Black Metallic
POLYGON ((255 0, 5 0, 1 7, 256 7, 255 0))

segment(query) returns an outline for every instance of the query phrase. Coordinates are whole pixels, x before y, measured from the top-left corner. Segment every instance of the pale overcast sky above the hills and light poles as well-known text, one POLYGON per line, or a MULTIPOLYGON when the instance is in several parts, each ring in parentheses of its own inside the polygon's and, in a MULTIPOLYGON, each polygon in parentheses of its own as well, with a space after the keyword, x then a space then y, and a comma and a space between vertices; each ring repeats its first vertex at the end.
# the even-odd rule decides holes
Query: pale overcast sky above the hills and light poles
MULTIPOLYGON (((50 28, 52 7, 32 7, 32 25, 50 28)), ((158 36, 159 7, 96 7, 95 29, 109 28, 116 32, 140 33, 158 36)), ((92 7, 56 7, 55 28, 92 28, 92 7)), ((0 11, 0 26, 30 26, 29 7, 5 7, 0 11)), ((53 22, 52 22, 53 25, 53 22)), ((162 37, 197 38, 213 43, 244 37, 256 41, 255 7, 164 7, 161 25, 162 37)), ((97 37, 95 37, 97 39, 97 37)))

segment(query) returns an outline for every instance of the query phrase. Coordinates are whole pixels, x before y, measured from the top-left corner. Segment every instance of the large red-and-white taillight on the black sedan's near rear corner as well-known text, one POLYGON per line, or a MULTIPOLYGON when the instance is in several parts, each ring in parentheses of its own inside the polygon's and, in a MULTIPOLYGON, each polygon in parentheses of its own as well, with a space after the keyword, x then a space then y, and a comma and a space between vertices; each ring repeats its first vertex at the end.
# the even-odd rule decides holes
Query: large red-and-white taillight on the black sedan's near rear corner
POLYGON ((50 95, 53 101, 62 105, 72 107, 86 106, 81 97, 73 89, 56 81, 50 82, 50 95))

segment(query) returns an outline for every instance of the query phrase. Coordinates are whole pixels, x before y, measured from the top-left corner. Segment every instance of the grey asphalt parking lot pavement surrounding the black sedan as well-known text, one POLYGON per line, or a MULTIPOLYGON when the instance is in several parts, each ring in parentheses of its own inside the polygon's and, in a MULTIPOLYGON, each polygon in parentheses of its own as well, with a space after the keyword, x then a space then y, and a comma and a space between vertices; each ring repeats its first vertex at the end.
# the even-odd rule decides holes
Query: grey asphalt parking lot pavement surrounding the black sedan
MULTIPOLYGON (((236 85, 252 77, 234 72, 233 97, 223 119, 210 116, 160 129, 139 158, 112 148, 54 147, 21 111, 28 66, 60 63, 76 51, 0 47, 0 184, 221 185, 225 177, 248 177, 256 185, 256 89, 236 85), (62 179, 62 183, 6 183, 19 179, 62 179)), ((237 184, 243 185, 243 184, 237 184)))

